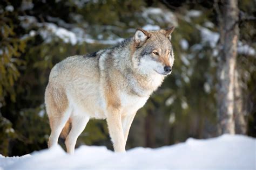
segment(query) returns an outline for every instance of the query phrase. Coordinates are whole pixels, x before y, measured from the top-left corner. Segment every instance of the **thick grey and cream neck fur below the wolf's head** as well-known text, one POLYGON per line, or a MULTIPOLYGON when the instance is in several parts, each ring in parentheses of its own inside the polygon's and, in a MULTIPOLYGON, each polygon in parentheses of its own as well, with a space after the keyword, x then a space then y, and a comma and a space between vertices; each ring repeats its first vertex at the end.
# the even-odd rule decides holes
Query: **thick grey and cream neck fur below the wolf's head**
POLYGON ((123 81, 127 81, 129 84, 129 92, 137 96, 150 96, 163 82, 164 76, 156 72, 142 73, 134 63, 132 58, 138 58, 135 56, 135 47, 133 39, 126 39, 118 46, 110 48, 111 58, 113 59, 112 68, 118 70, 123 76, 123 81))

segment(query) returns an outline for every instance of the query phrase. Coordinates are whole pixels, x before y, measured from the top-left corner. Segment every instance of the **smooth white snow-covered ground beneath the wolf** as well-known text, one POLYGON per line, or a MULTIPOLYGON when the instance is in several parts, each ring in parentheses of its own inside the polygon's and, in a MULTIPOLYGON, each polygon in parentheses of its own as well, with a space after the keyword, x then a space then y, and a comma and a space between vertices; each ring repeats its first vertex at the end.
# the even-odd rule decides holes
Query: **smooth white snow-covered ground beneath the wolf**
POLYGON ((69 155, 57 146, 23 157, 0 155, 0 169, 255 169, 255 154, 255 138, 226 134, 156 149, 137 147, 126 153, 80 146, 69 155))

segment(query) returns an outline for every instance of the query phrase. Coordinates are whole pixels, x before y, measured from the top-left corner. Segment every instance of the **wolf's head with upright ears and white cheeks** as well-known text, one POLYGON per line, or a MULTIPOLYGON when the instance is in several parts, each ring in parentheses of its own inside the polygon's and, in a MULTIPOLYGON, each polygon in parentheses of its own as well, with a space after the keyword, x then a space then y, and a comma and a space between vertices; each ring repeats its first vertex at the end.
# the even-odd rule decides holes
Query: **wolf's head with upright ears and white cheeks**
POLYGON ((133 37, 133 66, 143 74, 170 74, 174 61, 171 44, 173 30, 174 27, 159 31, 137 29, 133 37))

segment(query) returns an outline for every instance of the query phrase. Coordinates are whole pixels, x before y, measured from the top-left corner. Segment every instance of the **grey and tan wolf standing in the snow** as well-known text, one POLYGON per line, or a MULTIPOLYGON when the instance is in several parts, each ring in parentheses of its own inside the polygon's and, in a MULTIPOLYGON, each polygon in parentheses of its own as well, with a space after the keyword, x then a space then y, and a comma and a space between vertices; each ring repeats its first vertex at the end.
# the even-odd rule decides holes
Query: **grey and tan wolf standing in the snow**
POLYGON ((115 47, 57 63, 45 90, 48 146, 62 136, 66 151, 74 153, 78 136, 96 118, 106 119, 114 151, 125 152, 136 112, 172 72, 173 30, 137 29, 115 47))

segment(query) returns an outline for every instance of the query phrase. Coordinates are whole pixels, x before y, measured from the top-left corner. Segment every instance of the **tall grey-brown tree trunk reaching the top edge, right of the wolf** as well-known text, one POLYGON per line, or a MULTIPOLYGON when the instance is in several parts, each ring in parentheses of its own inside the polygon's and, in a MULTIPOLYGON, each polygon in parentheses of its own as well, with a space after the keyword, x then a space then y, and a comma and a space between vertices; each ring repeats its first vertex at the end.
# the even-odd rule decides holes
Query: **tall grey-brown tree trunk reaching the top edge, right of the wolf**
POLYGON ((238 1, 224 0, 221 3, 223 4, 220 9, 217 9, 221 46, 217 71, 218 132, 234 134, 234 68, 239 36, 238 1))

